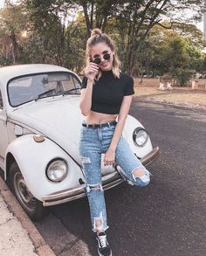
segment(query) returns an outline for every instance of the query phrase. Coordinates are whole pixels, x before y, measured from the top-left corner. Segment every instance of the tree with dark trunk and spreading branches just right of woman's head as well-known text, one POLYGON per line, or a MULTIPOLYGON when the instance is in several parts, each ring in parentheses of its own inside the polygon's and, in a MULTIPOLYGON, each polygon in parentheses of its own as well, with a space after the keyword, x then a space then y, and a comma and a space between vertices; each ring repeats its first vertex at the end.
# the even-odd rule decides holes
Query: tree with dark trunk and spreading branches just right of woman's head
POLYGON ((168 14, 174 16, 175 10, 189 9, 189 6, 192 6, 193 10, 200 10, 203 4, 203 0, 79 0, 74 2, 79 3, 84 10, 88 36, 93 27, 100 27, 104 31, 111 18, 116 20, 119 34, 121 35, 122 31, 127 34, 127 38, 123 38, 125 47, 122 55, 124 69, 128 73, 134 72, 141 43, 155 24, 161 24, 161 19, 168 14))

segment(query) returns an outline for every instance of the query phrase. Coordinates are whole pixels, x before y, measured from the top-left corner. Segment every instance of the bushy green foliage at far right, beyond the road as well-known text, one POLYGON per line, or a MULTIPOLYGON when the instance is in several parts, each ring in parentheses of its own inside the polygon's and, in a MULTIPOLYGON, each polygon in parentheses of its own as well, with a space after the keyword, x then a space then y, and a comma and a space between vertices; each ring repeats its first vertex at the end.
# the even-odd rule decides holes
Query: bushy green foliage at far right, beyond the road
POLYGON ((142 66, 140 56, 147 59, 148 65, 143 65, 146 73, 152 72, 154 75, 168 73, 175 78, 178 77, 178 80, 182 76, 183 80, 185 73, 190 76, 191 70, 203 71, 203 33, 193 25, 169 22, 164 22, 161 26, 154 25, 145 43, 147 47, 145 49, 143 47, 142 52, 139 52, 138 61, 142 66), (148 58, 150 51, 153 54, 148 58))

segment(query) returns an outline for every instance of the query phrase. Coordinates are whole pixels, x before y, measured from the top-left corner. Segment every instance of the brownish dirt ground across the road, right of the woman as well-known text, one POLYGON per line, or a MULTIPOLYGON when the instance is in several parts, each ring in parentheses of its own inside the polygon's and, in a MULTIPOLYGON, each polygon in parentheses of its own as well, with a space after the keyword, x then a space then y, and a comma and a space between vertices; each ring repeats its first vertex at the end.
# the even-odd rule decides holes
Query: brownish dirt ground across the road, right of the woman
POLYGON ((173 86, 173 90, 159 90, 159 79, 134 79, 135 96, 147 100, 163 101, 190 107, 206 107, 205 81, 199 83, 198 89, 192 86, 173 86))

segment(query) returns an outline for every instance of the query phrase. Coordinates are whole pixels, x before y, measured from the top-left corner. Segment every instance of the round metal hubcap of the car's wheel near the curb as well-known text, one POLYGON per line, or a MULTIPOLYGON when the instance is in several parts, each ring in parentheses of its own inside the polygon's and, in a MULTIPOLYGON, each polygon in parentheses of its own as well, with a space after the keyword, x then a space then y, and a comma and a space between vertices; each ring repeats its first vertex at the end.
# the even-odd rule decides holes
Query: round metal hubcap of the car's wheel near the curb
POLYGON ((24 208, 27 211, 33 211, 35 209, 36 198, 33 197, 31 191, 27 188, 24 177, 19 172, 14 176, 14 190, 24 208))

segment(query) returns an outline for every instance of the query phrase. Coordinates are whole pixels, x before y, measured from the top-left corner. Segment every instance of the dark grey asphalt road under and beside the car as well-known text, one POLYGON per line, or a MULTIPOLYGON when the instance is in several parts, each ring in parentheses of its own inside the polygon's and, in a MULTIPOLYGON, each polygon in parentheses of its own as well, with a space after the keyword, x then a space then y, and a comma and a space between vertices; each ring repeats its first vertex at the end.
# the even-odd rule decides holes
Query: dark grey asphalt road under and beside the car
MULTIPOLYGON (((106 191, 113 255, 206 255, 206 113, 134 100, 131 114, 161 156, 150 165, 148 187, 123 183, 106 191)), ((97 255, 86 199, 51 212, 36 226, 57 255, 70 255, 65 252, 77 238, 97 255)))

